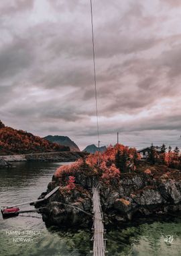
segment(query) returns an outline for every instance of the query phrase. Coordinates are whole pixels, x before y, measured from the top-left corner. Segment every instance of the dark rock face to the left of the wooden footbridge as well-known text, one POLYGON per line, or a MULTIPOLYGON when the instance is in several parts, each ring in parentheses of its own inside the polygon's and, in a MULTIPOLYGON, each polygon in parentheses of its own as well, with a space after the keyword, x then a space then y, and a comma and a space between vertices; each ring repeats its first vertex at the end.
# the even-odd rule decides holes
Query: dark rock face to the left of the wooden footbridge
MULTIPOLYGON (((96 183, 98 180, 97 177, 77 175, 76 181, 81 181, 84 187, 77 185, 76 189, 72 191, 67 191, 62 187, 50 197, 48 205, 45 205, 48 206, 48 208, 43 214, 43 220, 45 222, 61 227, 72 225, 85 227, 90 224, 92 220, 92 195, 91 189, 89 188, 93 187, 93 183, 96 183)), ((58 179, 53 177, 52 182, 48 185, 47 193, 52 191, 58 183, 58 179)))

